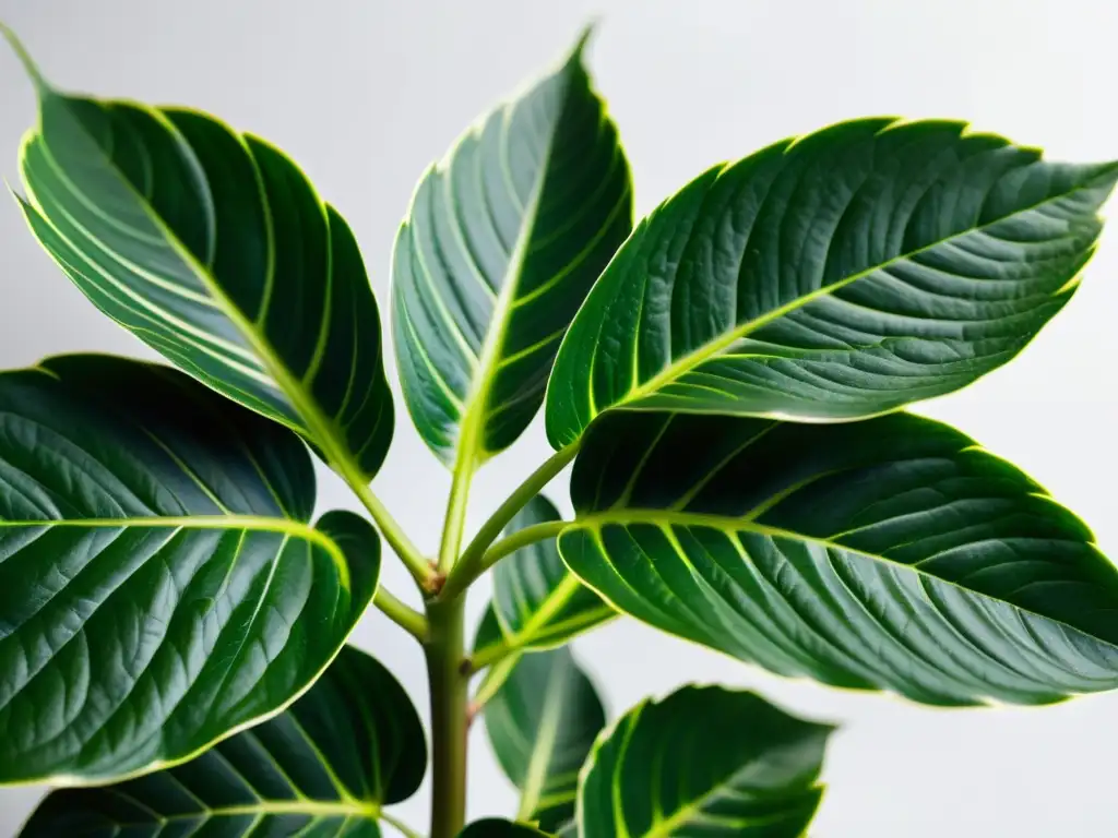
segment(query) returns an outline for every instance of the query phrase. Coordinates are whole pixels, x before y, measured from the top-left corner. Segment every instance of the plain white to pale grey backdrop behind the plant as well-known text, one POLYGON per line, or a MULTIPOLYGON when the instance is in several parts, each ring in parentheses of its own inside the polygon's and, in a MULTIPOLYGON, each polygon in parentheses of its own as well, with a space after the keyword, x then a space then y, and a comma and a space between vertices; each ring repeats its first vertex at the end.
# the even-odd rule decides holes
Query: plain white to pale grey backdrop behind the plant
MULTIPOLYGON (((196 106, 286 149, 349 218, 382 305, 391 240, 423 169, 595 17, 590 63, 632 160, 639 215, 714 162, 862 115, 965 118, 1052 158, 1118 158, 1118 4, 1108 0, 0 0, 0 19, 57 85, 196 106)), ((2 49, 0 92, 0 171, 17 182, 35 103, 2 49)), ((8 200, 0 242, 0 368, 82 350, 149 354, 70 287, 8 200)), ((1118 225, 1080 293, 1015 363, 918 410, 1023 467, 1118 555, 1116 330, 1118 225)), ((401 402, 397 416, 373 488, 434 550, 448 476, 401 402)), ((548 451, 533 427, 486 466, 471 525, 548 451)), ((329 475, 320 494, 323 507, 352 505, 329 475)), ((566 505, 562 482, 552 495, 566 505)), ((402 571, 386 565, 388 585, 407 593, 402 571)), ((485 596, 472 599, 473 615, 485 596)), ((426 713, 410 638, 373 615, 354 641, 426 713)), ((1118 695, 929 710, 778 679, 624 620, 576 653, 614 715, 697 680, 749 686, 841 723, 817 838, 1118 835, 1118 695)), ((514 809, 480 725, 471 781, 472 817, 514 809)), ((0 838, 41 793, 0 789, 0 838)), ((426 827, 426 794, 399 807, 414 826, 426 827)))

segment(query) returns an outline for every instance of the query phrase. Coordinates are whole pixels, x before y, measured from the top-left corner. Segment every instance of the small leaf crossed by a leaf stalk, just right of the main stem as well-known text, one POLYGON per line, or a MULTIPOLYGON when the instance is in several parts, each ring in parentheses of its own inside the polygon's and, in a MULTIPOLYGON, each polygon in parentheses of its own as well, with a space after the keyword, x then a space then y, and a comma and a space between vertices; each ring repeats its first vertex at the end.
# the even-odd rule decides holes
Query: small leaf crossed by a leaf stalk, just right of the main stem
MULTIPOLYGON (((510 522, 505 534, 561 520, 555 505, 537 495, 510 522)), ((521 547, 494 566, 493 609, 504 641, 512 648, 532 649, 562 645, 617 616, 567 570, 553 537, 521 547)))

